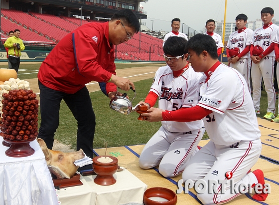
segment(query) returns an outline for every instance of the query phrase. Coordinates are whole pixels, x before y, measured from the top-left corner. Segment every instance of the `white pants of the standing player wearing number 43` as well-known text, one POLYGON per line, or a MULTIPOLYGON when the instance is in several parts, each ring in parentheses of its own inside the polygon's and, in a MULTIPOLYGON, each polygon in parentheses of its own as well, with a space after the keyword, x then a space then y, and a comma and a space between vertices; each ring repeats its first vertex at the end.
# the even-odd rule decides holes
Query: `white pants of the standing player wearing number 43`
POLYGON ((273 86, 275 57, 266 56, 260 63, 252 62, 251 78, 253 83, 253 104, 255 110, 260 110, 261 82, 264 79, 266 92, 268 94, 268 112, 275 113, 275 90, 273 86))

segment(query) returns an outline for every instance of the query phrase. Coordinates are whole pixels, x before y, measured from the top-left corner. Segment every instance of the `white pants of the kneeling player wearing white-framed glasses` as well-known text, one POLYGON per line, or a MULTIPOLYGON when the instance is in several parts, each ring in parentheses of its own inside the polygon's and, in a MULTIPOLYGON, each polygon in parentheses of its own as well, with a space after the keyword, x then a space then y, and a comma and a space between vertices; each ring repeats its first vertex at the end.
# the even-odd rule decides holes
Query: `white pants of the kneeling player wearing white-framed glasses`
POLYGON ((195 154, 197 146, 205 132, 204 128, 191 132, 168 132, 163 126, 144 146, 139 166, 150 169, 159 164, 159 173, 163 177, 175 177, 185 169, 186 162, 195 154))

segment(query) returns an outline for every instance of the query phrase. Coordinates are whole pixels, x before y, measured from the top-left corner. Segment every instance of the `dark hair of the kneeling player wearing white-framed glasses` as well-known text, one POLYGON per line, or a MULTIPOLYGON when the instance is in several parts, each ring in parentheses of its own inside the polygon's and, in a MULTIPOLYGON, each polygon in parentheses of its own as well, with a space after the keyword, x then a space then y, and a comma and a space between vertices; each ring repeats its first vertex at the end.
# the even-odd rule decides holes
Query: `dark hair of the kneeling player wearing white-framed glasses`
MULTIPOLYGON (((187 40, 185 38, 178 37, 178 36, 170 36, 165 41, 163 51, 167 55, 172 55, 172 56, 183 55, 188 53, 188 50, 186 49, 186 44, 187 44, 187 40)), ((183 57, 184 56, 182 56, 182 59, 183 57)))

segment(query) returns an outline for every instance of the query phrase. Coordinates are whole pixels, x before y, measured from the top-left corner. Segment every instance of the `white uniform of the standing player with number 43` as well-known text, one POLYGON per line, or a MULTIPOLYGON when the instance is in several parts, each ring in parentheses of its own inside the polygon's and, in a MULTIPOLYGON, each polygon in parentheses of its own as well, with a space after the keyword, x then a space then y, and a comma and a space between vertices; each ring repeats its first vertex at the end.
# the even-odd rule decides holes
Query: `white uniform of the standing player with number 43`
MULTIPOLYGON (((254 31, 251 44, 261 46, 264 51, 275 40, 276 31, 278 26, 271 24, 266 29, 262 27, 254 31)), ((274 71, 275 52, 274 50, 262 58, 260 63, 255 64, 252 62, 251 78, 253 83, 253 104, 256 111, 260 110, 261 99, 261 84, 262 78, 264 79, 265 89, 268 94, 268 112, 275 113, 275 90, 273 86, 273 71, 274 71)))

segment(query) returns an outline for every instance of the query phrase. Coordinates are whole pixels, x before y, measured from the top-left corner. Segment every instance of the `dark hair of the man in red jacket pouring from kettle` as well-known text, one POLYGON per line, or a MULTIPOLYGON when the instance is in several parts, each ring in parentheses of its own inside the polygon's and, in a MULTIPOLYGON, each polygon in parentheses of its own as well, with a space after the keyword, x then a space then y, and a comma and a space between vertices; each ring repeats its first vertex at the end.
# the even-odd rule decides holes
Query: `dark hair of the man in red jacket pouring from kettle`
POLYGON ((124 24, 127 24, 129 27, 132 27, 135 29, 135 32, 139 32, 139 19, 136 16, 135 13, 133 13, 130 9, 121 9, 117 11, 111 20, 118 20, 120 19, 124 24))

